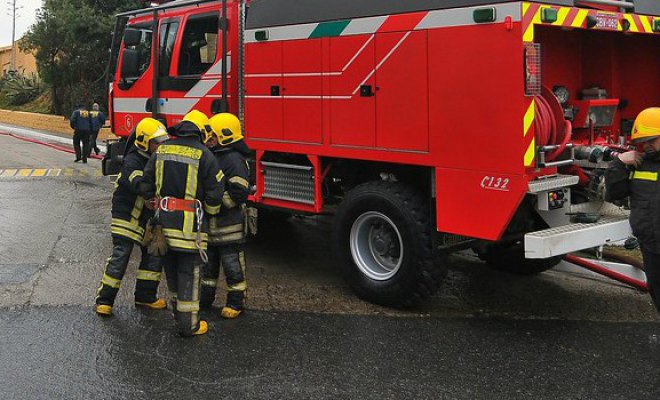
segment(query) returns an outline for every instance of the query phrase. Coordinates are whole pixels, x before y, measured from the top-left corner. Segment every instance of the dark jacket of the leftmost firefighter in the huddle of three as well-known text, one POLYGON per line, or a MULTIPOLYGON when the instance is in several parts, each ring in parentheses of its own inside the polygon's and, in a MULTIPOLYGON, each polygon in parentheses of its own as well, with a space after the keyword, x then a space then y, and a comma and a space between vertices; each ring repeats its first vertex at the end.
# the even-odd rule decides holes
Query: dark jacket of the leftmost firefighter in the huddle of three
POLYGON ((124 157, 112 195, 112 235, 131 239, 138 244, 142 243, 144 227, 153 214, 144 207, 144 198, 139 194, 147 161, 149 154, 132 146, 124 157))

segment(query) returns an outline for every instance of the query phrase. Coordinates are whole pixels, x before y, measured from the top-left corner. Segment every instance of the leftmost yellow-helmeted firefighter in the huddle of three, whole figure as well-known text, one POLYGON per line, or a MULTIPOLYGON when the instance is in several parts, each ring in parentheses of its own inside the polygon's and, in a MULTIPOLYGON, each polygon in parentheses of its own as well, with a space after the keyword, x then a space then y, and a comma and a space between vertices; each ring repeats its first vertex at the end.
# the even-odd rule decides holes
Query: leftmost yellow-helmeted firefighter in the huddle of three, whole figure
POLYGON ((165 126, 152 118, 140 121, 134 134, 134 146, 127 150, 112 195, 112 255, 106 263, 96 297, 96 313, 104 316, 112 315, 112 306, 135 244, 141 246, 142 251, 136 274, 135 305, 151 309, 167 306, 163 299, 156 296, 162 269, 161 259, 150 256, 142 246, 146 221, 152 212, 145 209, 144 198, 138 194, 138 188, 150 154, 168 136, 165 126))

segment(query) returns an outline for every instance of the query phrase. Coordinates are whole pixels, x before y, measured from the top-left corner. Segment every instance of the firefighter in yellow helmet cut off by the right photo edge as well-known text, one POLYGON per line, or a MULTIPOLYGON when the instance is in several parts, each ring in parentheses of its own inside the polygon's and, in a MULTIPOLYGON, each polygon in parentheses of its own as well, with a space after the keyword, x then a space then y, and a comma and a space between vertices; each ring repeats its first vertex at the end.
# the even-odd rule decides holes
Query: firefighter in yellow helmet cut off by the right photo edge
POLYGON ((612 161, 605 174, 606 199, 630 196, 630 226, 642 248, 651 298, 660 311, 660 108, 639 113, 631 140, 641 151, 612 161))

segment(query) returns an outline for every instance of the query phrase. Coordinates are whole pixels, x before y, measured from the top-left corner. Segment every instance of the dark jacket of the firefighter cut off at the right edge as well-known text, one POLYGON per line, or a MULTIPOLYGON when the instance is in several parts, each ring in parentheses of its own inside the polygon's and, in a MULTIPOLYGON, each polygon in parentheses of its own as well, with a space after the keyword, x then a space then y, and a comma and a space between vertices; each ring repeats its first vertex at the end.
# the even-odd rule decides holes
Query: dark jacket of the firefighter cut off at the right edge
POLYGON ((630 226, 646 251, 660 253, 660 153, 633 168, 615 159, 605 173, 606 200, 630 196, 630 226))

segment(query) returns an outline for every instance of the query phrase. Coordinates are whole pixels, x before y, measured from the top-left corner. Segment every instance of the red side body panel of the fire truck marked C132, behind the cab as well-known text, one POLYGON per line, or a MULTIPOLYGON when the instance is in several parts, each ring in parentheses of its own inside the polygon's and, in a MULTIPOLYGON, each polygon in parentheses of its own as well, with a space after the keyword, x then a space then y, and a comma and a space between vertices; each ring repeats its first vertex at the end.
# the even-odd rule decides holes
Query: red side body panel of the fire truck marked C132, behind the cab
POLYGON ((437 229, 498 239, 526 192, 528 143, 520 134, 520 4, 495 8, 499 20, 488 25, 476 25, 470 7, 278 26, 268 29, 268 41, 256 40, 261 28, 248 30, 249 145, 330 158, 353 152, 357 159, 438 168, 437 229), (507 17, 510 30, 503 27, 507 17), (315 38, 322 35, 322 41, 315 38), (303 56, 314 63, 302 65, 303 56), (322 65, 324 59, 329 64, 322 65), (280 63, 282 69, 274 68, 280 63), (253 93, 253 87, 262 90, 253 93), (282 95, 270 96, 273 87, 282 95), (265 123, 270 113, 283 122, 265 123), (321 131, 322 121, 329 123, 321 131), (502 187, 481 185, 485 177, 502 187))

